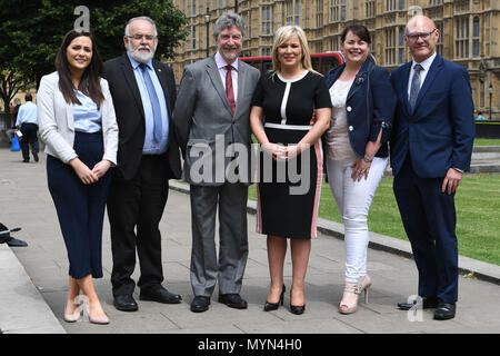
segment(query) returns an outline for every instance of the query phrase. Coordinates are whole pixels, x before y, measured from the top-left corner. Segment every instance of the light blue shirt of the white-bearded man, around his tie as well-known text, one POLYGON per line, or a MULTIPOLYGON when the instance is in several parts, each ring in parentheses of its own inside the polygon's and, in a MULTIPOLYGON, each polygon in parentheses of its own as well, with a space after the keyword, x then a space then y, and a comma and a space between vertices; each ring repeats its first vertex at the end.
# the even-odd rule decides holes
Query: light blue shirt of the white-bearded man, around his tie
POLYGON ((134 60, 130 53, 127 52, 130 59, 130 63, 133 68, 133 75, 136 76, 136 81, 139 87, 139 92, 141 95, 142 108, 144 109, 144 119, 146 119, 146 137, 144 137, 144 146, 142 148, 143 155, 160 155, 167 151, 168 138, 169 138, 169 112, 167 110, 167 102, 164 100, 163 88, 161 88, 160 80, 154 72, 154 68, 152 66, 152 60, 149 60, 146 66, 148 68, 149 77, 154 86, 154 90, 157 91, 158 99, 160 101, 160 110, 161 110, 161 140, 160 142, 154 141, 153 137, 153 127, 154 127, 154 118, 153 111, 151 107, 151 100, 149 99, 148 89, 146 87, 144 78, 142 77, 142 70, 139 67, 140 62, 134 60))

